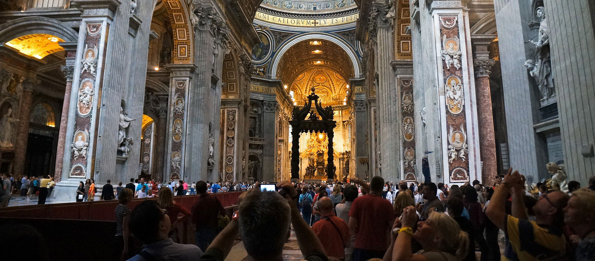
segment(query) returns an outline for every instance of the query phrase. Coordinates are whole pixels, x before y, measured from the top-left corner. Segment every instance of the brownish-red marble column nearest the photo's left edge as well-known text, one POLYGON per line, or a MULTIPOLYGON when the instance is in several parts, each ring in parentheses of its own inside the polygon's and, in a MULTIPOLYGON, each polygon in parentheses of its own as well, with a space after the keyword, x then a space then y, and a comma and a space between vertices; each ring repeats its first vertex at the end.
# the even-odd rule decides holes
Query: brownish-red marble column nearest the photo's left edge
POLYGON ((39 84, 39 80, 26 78, 21 82, 23 93, 21 93, 20 105, 18 107, 17 137, 14 142, 14 163, 12 165, 15 179, 20 179, 25 171, 27 139, 29 139, 29 116, 31 114, 34 84, 39 84))

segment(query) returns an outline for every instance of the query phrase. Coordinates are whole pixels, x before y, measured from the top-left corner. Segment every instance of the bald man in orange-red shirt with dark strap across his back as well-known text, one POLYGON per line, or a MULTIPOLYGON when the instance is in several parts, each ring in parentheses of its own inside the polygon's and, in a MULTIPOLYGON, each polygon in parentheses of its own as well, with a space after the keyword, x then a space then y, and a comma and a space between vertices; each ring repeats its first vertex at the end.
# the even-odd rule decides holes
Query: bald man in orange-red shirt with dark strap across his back
POLYGON ((324 197, 318 200, 320 221, 314 223, 312 230, 318 235, 327 256, 345 260, 345 248, 349 247, 349 227, 343 219, 334 215, 333 202, 324 197))

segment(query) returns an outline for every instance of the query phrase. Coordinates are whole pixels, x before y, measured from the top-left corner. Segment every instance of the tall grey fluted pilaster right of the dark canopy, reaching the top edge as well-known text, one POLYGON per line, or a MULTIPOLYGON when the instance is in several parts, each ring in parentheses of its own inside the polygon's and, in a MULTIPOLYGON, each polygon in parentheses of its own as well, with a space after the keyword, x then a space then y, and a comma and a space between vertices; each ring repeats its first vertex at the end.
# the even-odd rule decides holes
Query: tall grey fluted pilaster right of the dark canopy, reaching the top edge
POLYGON ((375 69, 378 74, 377 106, 378 106, 378 173, 387 181, 399 179, 399 120, 397 113, 397 92, 394 87, 394 75, 391 66, 394 52, 393 19, 387 18, 389 5, 387 1, 376 1, 372 6, 369 27, 371 42, 375 42, 375 69))

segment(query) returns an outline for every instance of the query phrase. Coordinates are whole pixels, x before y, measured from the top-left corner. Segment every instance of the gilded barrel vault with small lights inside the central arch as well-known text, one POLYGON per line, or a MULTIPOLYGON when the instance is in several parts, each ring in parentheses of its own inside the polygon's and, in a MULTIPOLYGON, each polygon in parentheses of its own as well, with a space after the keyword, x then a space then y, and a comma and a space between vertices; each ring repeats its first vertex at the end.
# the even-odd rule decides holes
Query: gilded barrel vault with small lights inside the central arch
POLYGON ((331 69, 343 79, 353 77, 349 56, 336 43, 328 40, 305 40, 294 44, 281 57, 277 68, 283 82, 291 83, 298 75, 311 68, 331 69), (319 44, 312 44, 311 42, 319 44))

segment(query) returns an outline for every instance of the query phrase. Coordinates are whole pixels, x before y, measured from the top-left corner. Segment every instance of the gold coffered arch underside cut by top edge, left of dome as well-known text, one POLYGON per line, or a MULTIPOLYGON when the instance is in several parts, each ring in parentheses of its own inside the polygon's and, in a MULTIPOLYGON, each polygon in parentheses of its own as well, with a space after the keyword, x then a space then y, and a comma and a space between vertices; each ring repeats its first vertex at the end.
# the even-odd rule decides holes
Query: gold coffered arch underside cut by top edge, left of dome
POLYGON ((163 5, 170 15, 174 38, 173 63, 192 63, 194 44, 192 24, 189 19, 189 7, 182 0, 163 0, 163 5))

